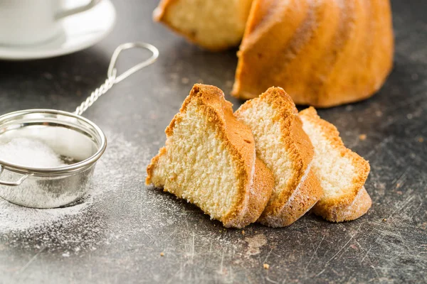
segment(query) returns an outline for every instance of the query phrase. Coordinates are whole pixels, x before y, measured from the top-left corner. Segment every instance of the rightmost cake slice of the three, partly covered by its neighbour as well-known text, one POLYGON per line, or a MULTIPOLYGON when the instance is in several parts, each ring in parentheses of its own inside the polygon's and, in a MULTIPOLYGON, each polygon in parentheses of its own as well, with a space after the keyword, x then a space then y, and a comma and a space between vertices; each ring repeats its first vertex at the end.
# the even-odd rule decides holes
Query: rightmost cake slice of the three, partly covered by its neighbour
POLYGON ((364 188, 369 163, 346 148, 337 128, 320 119, 313 107, 301 111, 300 117, 315 147, 312 166, 324 192, 313 212, 332 222, 361 217, 372 203, 364 188))

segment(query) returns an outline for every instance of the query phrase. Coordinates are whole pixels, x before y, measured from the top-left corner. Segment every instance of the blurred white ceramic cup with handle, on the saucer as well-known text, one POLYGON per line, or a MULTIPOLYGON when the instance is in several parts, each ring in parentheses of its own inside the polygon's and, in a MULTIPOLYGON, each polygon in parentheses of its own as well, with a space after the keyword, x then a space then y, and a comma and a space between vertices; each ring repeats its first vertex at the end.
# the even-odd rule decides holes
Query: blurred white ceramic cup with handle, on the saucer
POLYGON ((60 20, 87 11, 100 0, 65 9, 63 0, 0 0, 0 45, 43 43, 60 33, 60 20))

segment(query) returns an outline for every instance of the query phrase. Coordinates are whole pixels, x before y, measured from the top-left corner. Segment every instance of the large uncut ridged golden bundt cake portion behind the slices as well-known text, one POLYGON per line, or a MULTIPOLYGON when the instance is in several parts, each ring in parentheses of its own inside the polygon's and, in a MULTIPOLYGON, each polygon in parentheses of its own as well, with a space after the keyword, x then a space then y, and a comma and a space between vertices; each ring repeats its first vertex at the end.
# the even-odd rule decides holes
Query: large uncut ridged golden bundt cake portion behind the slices
POLYGON ((381 87, 393 53, 389 0, 254 0, 232 94, 275 85, 296 104, 356 102, 381 87))

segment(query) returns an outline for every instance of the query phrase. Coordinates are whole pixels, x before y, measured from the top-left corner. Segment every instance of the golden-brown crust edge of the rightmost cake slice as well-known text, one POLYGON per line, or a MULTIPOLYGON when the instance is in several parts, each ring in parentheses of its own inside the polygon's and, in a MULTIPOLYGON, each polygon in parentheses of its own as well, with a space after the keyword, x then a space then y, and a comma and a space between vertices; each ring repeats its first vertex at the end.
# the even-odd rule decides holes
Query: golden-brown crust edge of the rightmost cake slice
POLYGON ((337 128, 333 124, 321 119, 317 115, 315 108, 310 107, 300 111, 300 116, 303 116, 304 119, 307 119, 312 124, 319 126, 322 132, 325 133, 327 141, 339 151, 340 155, 352 160, 352 164, 357 172, 347 195, 322 198, 313 207, 313 212, 331 222, 349 221, 361 217, 368 211, 372 204, 371 197, 369 197, 364 188, 364 183, 369 175, 369 163, 357 155, 357 153, 344 146, 337 128))

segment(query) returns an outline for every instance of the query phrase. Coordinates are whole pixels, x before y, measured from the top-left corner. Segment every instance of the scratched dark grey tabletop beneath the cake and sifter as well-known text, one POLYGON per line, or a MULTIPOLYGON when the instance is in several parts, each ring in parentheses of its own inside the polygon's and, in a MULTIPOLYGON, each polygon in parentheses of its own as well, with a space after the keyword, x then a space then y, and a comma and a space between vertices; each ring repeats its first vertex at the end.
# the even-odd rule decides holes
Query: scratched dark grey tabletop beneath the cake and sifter
MULTIPOLYGON (((320 110, 344 143, 371 163, 369 212, 341 224, 308 214, 287 228, 253 224, 244 234, 143 183, 148 160, 193 83, 214 84, 235 108, 241 104, 229 96, 236 50, 209 53, 152 23, 157 1, 113 2, 117 26, 94 47, 48 60, 0 61, 5 114, 73 110, 105 80, 120 43, 146 41, 161 54, 85 113, 110 141, 98 168, 108 175, 95 175, 93 190, 111 190, 93 194, 79 218, 1 231, 0 283, 427 282, 426 2, 392 1, 395 64, 381 91, 364 102, 320 110)), ((144 56, 125 53, 120 68, 144 56)))

